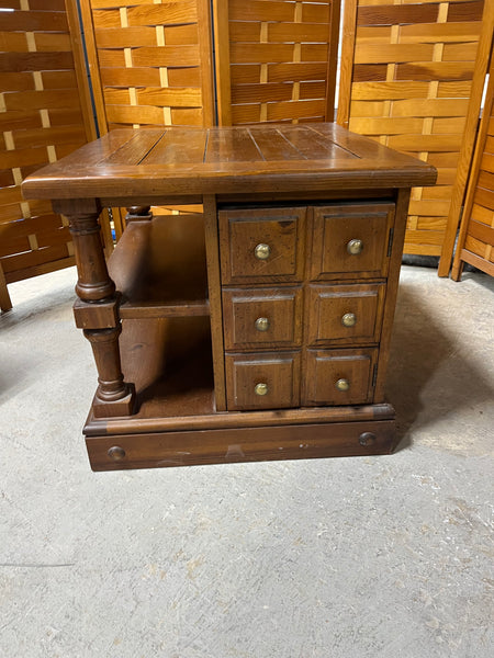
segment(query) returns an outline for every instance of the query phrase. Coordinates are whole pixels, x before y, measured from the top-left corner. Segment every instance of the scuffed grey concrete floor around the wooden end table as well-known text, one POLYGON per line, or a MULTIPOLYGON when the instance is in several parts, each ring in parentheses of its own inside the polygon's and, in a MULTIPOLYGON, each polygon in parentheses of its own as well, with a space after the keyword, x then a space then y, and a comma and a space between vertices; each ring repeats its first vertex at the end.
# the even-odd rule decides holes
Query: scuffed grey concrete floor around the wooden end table
POLYGON ((74 270, 0 318, 0 656, 493 655, 494 281, 403 269, 392 456, 93 474, 74 270))

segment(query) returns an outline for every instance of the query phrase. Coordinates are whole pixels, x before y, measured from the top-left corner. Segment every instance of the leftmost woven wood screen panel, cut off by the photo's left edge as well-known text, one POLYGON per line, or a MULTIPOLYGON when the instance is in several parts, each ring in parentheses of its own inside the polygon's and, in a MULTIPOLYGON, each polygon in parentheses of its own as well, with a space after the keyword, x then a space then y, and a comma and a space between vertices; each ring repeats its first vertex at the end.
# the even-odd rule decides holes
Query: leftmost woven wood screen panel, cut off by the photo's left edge
POLYGON ((96 136, 75 2, 2 0, 0 8, 0 304, 7 284, 74 264, 65 218, 26 202, 31 172, 96 136))

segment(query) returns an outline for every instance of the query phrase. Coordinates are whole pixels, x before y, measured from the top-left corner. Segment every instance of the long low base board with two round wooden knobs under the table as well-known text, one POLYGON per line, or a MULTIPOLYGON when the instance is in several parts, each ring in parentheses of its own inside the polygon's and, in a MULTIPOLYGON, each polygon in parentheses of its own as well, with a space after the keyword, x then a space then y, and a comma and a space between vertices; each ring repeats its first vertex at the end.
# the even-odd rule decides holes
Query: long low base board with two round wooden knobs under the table
POLYGON ((377 455, 394 441, 394 420, 86 438, 93 470, 377 455))

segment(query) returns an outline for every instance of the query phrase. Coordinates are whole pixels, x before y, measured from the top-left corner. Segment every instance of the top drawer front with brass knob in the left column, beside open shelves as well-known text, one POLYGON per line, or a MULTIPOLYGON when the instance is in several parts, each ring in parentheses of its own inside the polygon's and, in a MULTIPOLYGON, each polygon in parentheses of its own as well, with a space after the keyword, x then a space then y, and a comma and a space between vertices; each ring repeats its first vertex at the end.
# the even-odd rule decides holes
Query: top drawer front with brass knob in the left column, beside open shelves
POLYGON ((222 281, 303 279, 305 208, 221 211, 222 281))

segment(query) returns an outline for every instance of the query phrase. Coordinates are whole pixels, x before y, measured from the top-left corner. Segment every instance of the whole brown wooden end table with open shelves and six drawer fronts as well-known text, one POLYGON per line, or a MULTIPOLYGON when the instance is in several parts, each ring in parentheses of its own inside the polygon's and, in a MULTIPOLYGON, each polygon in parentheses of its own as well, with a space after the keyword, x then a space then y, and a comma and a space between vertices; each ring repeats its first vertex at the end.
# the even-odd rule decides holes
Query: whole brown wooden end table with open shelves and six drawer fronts
POLYGON ((434 180, 333 124, 114 131, 27 179, 75 231, 92 467, 389 452, 409 188, 434 180), (110 203, 131 212, 106 271, 110 203))

